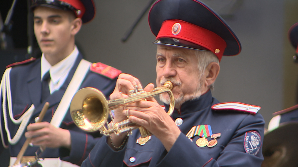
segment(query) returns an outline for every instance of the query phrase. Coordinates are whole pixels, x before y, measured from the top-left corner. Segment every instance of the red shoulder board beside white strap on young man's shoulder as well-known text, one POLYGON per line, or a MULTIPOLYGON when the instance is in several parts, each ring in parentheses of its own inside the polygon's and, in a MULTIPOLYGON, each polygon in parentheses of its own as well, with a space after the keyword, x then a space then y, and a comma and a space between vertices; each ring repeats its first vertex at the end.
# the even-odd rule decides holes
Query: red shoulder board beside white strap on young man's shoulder
POLYGON ((90 71, 101 74, 110 79, 115 79, 119 74, 122 73, 122 71, 100 62, 92 63, 90 65, 90 71))

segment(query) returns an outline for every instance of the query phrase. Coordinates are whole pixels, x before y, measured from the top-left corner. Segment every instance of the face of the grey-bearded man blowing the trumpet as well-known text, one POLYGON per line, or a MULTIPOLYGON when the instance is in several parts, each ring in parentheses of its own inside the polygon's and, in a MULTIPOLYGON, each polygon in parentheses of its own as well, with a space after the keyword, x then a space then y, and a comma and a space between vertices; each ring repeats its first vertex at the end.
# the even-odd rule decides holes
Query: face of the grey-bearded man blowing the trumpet
MULTIPOLYGON (((201 95, 204 77, 201 77, 198 70, 198 59, 194 50, 157 45, 156 60, 156 85, 161 86, 167 80, 173 83, 176 107, 201 95)), ((160 95, 160 99, 169 104, 167 93, 160 95)))

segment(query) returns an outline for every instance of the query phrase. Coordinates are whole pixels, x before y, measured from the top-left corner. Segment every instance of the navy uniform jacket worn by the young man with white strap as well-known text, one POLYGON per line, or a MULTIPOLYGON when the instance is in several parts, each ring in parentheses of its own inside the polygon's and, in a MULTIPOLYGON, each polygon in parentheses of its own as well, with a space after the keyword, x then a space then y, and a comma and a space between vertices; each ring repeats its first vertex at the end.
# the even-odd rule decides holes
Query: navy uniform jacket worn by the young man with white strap
MULTIPOLYGON (((45 102, 49 102, 49 109, 44 116, 43 121, 50 122, 52 119, 55 110, 58 107, 58 104, 70 82, 72 79, 75 70, 82 59, 82 55, 79 54, 74 66, 69 72, 67 79, 61 88, 55 91, 52 95, 50 95, 45 102)), ((27 109, 34 104, 35 111, 30 118, 29 123, 34 123, 34 118, 39 115, 41 112, 44 103, 40 102, 41 99, 41 59, 37 59, 29 64, 14 66, 10 72, 10 84, 11 84, 11 93, 12 93, 12 102, 13 102, 13 115, 15 119, 18 119, 22 116, 22 114, 27 111, 27 109)), ((115 79, 110 79, 101 74, 94 73, 92 71, 88 71, 84 81, 82 82, 80 88, 84 87, 94 87, 103 92, 106 97, 113 92, 116 85, 117 77, 115 79)), ((2 96, 1 96, 2 102, 2 96)), ((7 112, 8 113, 8 112, 7 112)), ((10 135, 13 137, 18 130, 19 125, 15 125, 8 116, 8 127, 10 130, 10 135)), ((4 137, 7 140, 7 135, 4 130, 3 125, 3 113, 1 106, 1 123, 2 123, 2 131, 4 131, 4 137)), ((87 133, 80 128, 78 128, 72 121, 70 116, 70 112, 67 111, 63 122, 60 125, 63 129, 69 129, 71 134, 71 150, 66 148, 60 149, 51 149, 46 148, 45 152, 42 154, 42 157, 60 157, 62 160, 69 161, 74 164, 80 165, 82 161, 88 156, 89 152, 93 148, 93 146, 98 141, 96 137, 100 136, 99 131, 93 133, 87 133)), ((27 130, 25 130, 26 132, 27 130)), ((18 143, 15 145, 9 145, 10 155, 12 157, 16 157, 26 141, 25 136, 23 135, 18 143)), ((8 142, 6 141, 6 144, 8 142)), ((28 147, 24 156, 35 156, 35 152, 39 147, 33 146, 28 147)), ((3 150, 3 146, 1 144, 0 151, 3 150)))

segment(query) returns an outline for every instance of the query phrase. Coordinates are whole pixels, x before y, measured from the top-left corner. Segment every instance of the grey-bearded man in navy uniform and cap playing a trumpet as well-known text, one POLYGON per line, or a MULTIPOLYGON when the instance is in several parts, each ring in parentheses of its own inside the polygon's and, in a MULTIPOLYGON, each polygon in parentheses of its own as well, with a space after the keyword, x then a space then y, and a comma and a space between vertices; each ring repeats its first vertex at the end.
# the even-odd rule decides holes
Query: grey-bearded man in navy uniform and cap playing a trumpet
MULTIPOLYGON (((159 0, 149 12, 156 41, 156 85, 173 83, 175 110, 169 96, 114 110, 114 122, 128 119, 151 136, 133 130, 127 136, 101 138, 82 166, 260 166, 263 161, 263 117, 260 107, 219 103, 212 97, 221 57, 236 55, 241 45, 226 22, 198 0, 159 0)), ((127 97, 139 80, 120 74, 110 99, 127 97)), ((144 90, 149 92, 153 84, 144 90)))

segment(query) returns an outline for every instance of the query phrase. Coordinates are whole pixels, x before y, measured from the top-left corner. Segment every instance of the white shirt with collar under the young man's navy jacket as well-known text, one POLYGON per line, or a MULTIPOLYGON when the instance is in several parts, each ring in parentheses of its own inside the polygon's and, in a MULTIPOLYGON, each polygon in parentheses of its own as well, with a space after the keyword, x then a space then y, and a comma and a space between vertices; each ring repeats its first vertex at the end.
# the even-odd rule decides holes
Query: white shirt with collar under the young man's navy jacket
POLYGON ((41 80, 46 72, 50 71, 49 89, 51 94, 63 85, 78 54, 79 50, 75 46, 75 49, 65 59, 53 66, 46 60, 44 53, 41 55, 41 80))

